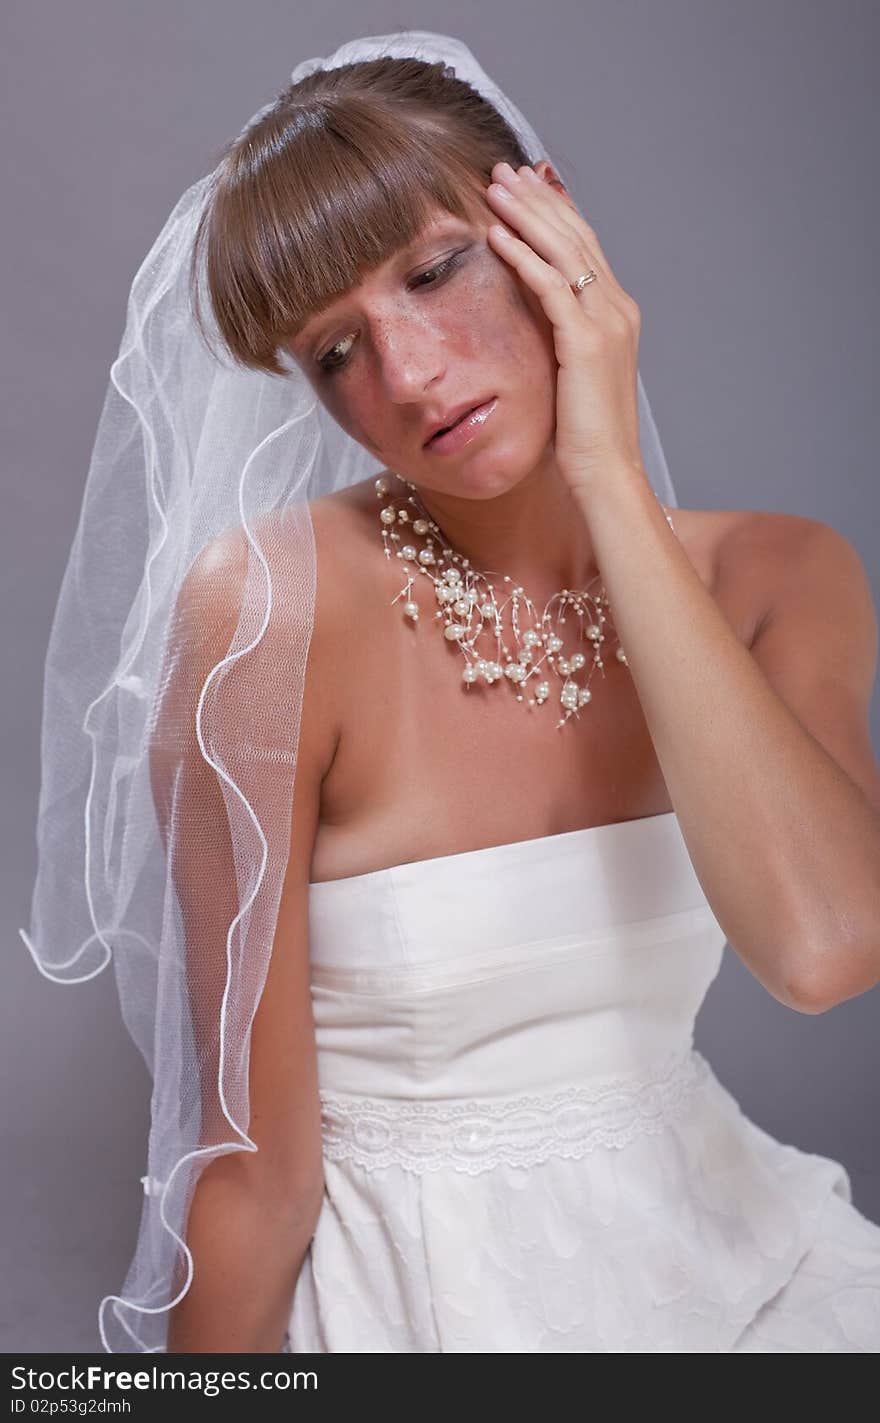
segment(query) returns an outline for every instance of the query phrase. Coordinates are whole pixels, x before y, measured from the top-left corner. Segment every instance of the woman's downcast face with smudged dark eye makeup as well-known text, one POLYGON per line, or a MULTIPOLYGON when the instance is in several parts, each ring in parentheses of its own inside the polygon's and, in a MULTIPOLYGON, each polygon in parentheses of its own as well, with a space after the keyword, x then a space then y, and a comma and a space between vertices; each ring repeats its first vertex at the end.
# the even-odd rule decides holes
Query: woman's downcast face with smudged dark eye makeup
POLYGON ((555 425, 552 329, 488 246, 493 221, 488 209, 468 222, 434 209, 416 242, 288 344, 337 424, 387 468, 477 499, 534 471, 555 425), (429 443, 461 410, 493 401, 468 440, 429 443))

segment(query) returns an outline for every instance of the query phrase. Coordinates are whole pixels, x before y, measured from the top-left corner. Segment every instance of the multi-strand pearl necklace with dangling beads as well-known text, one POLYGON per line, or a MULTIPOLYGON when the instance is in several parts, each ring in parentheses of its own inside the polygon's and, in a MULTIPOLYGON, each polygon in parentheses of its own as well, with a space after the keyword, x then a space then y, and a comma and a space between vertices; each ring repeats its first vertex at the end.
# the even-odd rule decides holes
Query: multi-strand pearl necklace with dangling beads
MULTIPOLYGON (((397 475, 397 478, 402 477, 397 475)), ((416 485, 410 484, 409 480, 403 480, 403 484, 412 490, 406 499, 410 508, 406 505, 400 508, 393 497, 389 497, 392 485, 384 475, 374 480, 376 497, 383 501, 379 519, 384 556, 390 559, 392 552, 394 552, 404 565, 406 581, 396 598, 392 599, 392 605, 404 598, 403 615, 416 623, 420 610, 413 598, 416 575, 429 578, 439 605, 434 618, 446 623, 444 636, 449 642, 456 642, 464 655, 461 680, 466 687, 476 682, 483 682, 487 686, 507 682, 515 689, 517 702, 525 702, 523 689, 527 689, 528 682, 535 677, 538 680, 534 686, 534 696, 528 697, 528 706, 543 706, 550 699, 550 682, 545 676, 545 667, 548 667, 562 682, 560 704, 564 709, 564 716, 557 721, 557 727, 565 726, 568 719, 577 717, 580 707, 587 706, 591 700, 590 682, 595 670, 598 669, 602 679, 605 677, 602 645, 608 640, 605 626, 608 623, 607 613, 609 613, 608 598, 604 583, 597 593, 590 592, 594 583, 599 582, 601 575, 597 573, 584 589, 562 588, 561 592, 554 593, 547 601, 540 618, 525 591, 504 575, 504 583, 510 583, 510 588, 506 589, 508 596, 498 603, 496 583, 490 582, 490 578, 498 575, 477 572, 470 566, 470 559, 456 554, 421 504, 416 485), (412 529, 412 534, 423 541, 421 546, 416 546, 409 539, 402 542, 400 528, 412 529), (392 544, 399 546, 392 549, 392 544), (437 545, 440 545, 439 549, 437 545), (511 605, 514 652, 504 642, 501 625, 501 615, 508 603, 511 605), (580 639, 587 639, 591 643, 590 656, 581 650, 574 652, 570 657, 560 656, 564 645, 560 625, 565 622, 567 608, 574 610, 580 623, 580 639), (531 626, 525 629, 520 626, 521 609, 531 620, 531 626), (477 652, 476 643, 481 635, 494 635, 493 657, 484 657, 477 652), (504 662, 500 660, 501 657, 504 662), (588 662, 587 682, 578 684, 572 673, 581 672, 588 662)), ((656 497, 656 491, 654 492, 656 497)), ((664 514, 675 534, 675 525, 665 508, 664 514)), ((611 632, 617 638, 614 629, 611 632)), ((614 655, 618 662, 628 666, 627 653, 619 646, 619 639, 617 642, 614 655)))

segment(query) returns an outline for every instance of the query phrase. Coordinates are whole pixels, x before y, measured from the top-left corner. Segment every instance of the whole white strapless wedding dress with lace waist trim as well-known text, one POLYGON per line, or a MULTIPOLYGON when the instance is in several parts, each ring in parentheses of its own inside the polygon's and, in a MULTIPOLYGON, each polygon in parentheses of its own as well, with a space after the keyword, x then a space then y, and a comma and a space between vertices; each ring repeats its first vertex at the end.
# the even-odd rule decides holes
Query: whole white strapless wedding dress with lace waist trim
POLYGON ((675 813, 310 887, 300 1352, 880 1352, 880 1225, 693 1047, 675 813))

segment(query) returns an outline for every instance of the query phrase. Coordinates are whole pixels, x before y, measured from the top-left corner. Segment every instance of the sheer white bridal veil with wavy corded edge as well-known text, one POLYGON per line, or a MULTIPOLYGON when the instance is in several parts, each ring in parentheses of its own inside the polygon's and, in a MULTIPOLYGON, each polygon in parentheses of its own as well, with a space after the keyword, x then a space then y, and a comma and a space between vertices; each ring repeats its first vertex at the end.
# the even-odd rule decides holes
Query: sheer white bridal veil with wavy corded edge
MULTIPOLYGON (((451 65, 530 162, 548 157, 446 36, 355 40, 290 81, 380 55, 451 65)), ((243 370, 205 344, 188 258, 209 186, 211 175, 184 192, 131 286, 48 642, 38 868, 20 931, 57 983, 112 963, 152 1074, 147 1160, 132 1163, 137 1248, 98 1311, 108 1352, 165 1349, 192 1278, 185 1222, 201 1168, 256 1150, 251 1025, 289 854, 315 608, 309 501, 379 468, 296 369, 243 370)), ((641 377, 638 403, 648 477, 674 507, 641 377)))

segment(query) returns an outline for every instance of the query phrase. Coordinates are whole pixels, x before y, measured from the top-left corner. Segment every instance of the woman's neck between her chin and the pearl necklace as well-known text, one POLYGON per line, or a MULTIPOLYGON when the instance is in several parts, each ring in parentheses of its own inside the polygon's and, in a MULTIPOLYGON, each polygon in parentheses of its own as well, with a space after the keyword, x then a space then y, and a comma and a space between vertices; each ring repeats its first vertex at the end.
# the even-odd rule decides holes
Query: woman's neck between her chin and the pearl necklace
POLYGON ((550 455, 491 499, 421 487, 417 492, 451 548, 477 572, 507 573, 533 596, 585 588, 598 575, 587 519, 550 455))

